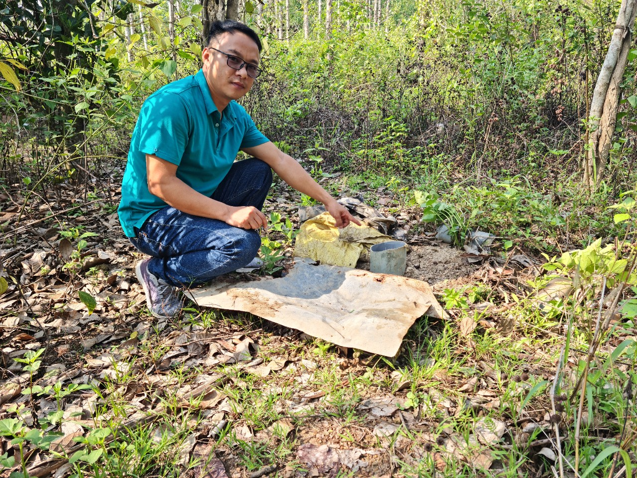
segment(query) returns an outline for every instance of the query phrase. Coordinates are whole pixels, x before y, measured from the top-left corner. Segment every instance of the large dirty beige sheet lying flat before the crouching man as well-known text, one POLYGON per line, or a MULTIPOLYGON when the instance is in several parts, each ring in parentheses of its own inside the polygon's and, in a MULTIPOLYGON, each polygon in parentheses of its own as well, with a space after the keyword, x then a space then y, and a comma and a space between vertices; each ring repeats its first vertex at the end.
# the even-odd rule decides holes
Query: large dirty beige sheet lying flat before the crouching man
POLYGON ((203 307, 241 310, 336 345, 396 355, 424 314, 445 314, 426 282, 296 258, 285 277, 213 282, 189 292, 203 307))

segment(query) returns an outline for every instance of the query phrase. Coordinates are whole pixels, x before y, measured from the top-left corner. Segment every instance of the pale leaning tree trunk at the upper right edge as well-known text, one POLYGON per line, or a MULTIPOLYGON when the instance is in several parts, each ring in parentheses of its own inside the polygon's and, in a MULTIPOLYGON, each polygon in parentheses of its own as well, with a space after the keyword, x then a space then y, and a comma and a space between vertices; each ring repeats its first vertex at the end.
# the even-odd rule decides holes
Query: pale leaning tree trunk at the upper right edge
POLYGON ((584 161, 584 183, 590 191, 596 190, 601 183, 610 156, 622 95, 620 83, 626 70, 636 13, 637 0, 622 0, 615 31, 590 101, 589 149, 584 161))

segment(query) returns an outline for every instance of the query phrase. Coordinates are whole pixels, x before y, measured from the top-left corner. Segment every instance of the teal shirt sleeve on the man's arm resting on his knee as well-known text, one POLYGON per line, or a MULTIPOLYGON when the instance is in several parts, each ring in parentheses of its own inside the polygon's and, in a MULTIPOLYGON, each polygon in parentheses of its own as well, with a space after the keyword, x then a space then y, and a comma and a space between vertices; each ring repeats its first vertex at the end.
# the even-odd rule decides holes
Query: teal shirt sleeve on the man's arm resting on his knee
POLYGON ((141 107, 140 151, 179 165, 189 140, 189 114, 183 99, 166 92, 150 96, 141 107))

